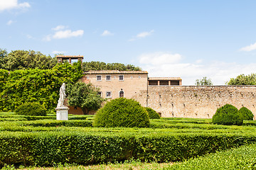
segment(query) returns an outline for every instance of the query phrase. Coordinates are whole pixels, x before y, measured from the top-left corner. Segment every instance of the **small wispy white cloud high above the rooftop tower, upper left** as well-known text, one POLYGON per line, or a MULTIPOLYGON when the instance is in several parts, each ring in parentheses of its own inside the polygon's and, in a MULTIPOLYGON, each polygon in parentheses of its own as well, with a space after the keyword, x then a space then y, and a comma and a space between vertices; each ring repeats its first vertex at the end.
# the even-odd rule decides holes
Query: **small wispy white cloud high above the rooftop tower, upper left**
POLYGON ((52 30, 55 30, 55 33, 53 35, 46 35, 43 40, 44 41, 50 41, 52 39, 63 39, 63 38, 71 38, 71 37, 78 37, 82 36, 84 31, 83 30, 63 30, 66 26, 57 26, 55 28, 52 28, 52 30))

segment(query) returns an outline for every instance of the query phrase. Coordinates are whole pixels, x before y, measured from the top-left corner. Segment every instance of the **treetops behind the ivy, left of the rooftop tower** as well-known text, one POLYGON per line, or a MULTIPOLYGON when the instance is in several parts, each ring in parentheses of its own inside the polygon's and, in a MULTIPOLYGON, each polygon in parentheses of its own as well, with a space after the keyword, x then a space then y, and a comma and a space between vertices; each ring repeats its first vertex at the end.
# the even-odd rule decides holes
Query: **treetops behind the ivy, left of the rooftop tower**
POLYGON ((3 69, 14 71, 16 69, 51 69, 57 64, 56 57, 43 55, 33 50, 11 51, 3 60, 3 69))

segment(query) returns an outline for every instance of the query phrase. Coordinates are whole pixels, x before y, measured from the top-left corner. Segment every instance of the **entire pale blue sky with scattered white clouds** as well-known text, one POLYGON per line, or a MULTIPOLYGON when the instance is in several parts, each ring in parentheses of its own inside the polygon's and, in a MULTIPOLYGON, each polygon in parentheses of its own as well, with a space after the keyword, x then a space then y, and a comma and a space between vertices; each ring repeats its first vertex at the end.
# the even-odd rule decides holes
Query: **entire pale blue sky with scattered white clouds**
POLYGON ((0 0, 0 48, 221 85, 256 72, 255 8, 250 0, 0 0))

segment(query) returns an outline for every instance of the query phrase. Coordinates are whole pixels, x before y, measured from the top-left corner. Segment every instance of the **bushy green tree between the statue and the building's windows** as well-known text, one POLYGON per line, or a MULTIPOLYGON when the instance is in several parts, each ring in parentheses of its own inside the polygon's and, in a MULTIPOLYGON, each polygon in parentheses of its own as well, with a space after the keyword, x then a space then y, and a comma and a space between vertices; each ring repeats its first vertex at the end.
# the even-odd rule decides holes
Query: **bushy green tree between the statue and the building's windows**
POLYGON ((92 84, 85 84, 83 82, 76 82, 75 84, 67 85, 68 104, 70 106, 80 107, 87 115, 89 111, 97 111, 101 107, 103 99, 98 93, 100 92, 92 84))

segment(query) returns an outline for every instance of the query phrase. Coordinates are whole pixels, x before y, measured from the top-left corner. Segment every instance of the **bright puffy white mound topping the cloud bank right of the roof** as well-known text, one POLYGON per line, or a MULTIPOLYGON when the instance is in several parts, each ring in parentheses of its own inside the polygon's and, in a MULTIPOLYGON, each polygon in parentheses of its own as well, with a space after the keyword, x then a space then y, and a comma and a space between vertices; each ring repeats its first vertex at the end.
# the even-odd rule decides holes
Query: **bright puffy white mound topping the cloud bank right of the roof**
POLYGON ((144 64, 169 64, 181 60, 181 55, 168 52, 154 52, 139 56, 139 62, 144 64))

